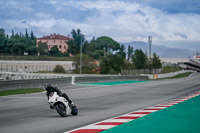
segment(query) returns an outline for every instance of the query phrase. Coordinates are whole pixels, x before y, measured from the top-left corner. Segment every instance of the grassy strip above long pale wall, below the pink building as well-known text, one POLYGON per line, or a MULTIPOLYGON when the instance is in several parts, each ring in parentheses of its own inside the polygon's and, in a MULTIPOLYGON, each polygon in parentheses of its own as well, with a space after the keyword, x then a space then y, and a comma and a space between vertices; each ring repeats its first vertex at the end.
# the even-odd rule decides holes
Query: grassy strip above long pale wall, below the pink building
POLYGON ((52 56, 12 56, 0 55, 0 60, 48 60, 48 61, 73 61, 72 57, 52 57, 52 56))

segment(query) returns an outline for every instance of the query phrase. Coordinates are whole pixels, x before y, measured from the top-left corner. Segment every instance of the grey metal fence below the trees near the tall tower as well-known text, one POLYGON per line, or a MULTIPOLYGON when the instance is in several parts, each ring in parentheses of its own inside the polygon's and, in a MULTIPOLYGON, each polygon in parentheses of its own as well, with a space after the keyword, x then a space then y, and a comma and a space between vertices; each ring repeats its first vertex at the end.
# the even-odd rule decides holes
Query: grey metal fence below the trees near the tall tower
POLYGON ((140 75, 140 74, 157 74, 162 69, 133 69, 122 70, 122 75, 140 75))

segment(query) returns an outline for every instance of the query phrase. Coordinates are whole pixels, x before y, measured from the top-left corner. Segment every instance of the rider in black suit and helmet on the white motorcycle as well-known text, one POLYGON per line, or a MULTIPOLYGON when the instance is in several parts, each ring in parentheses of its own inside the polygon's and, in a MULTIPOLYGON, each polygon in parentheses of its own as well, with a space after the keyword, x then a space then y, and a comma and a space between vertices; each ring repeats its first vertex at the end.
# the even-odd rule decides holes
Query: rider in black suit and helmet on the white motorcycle
MULTIPOLYGON (((62 96, 64 97, 68 102, 69 102, 69 106, 70 107, 73 107, 73 103, 72 101, 69 99, 69 97, 67 96, 66 93, 62 93, 57 87, 53 87, 51 84, 45 84, 44 88, 46 89, 46 95, 47 95, 47 98, 49 100, 49 95, 51 92, 57 92, 57 94, 59 96, 62 96)), ((50 105, 50 109, 53 109, 53 107, 50 105)))

